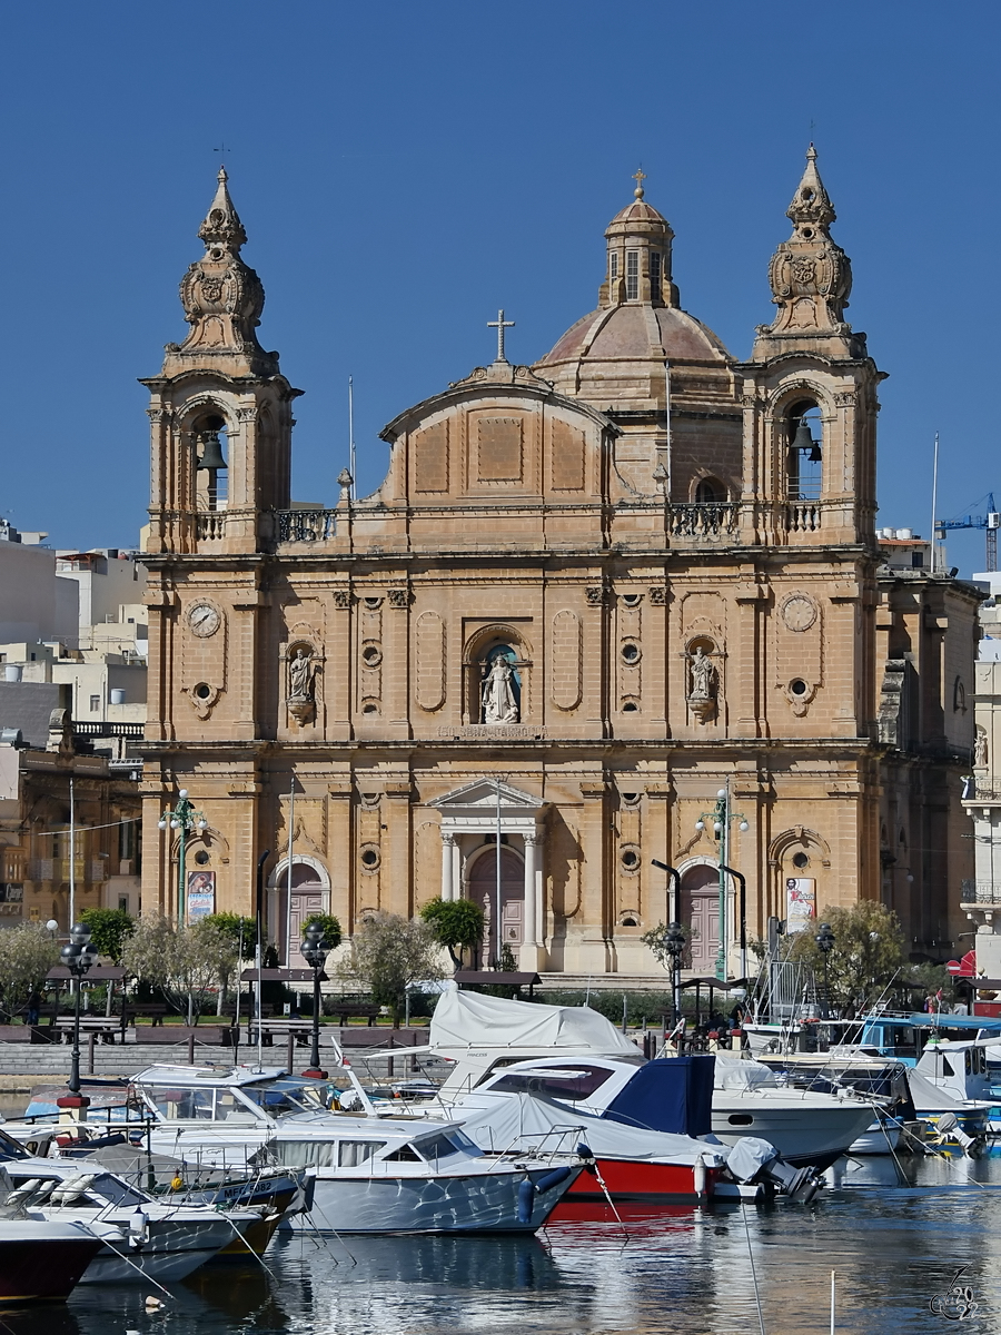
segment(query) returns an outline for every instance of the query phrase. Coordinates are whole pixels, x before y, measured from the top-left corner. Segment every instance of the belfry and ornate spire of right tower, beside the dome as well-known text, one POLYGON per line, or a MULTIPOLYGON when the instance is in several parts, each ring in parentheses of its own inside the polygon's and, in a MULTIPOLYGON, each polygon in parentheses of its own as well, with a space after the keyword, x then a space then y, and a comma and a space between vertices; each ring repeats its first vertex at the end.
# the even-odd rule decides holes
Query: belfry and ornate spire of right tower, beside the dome
POLYGON ((844 319, 852 266, 813 144, 771 258, 778 307, 743 372, 743 525, 750 541, 874 543, 877 386, 865 334, 844 319))

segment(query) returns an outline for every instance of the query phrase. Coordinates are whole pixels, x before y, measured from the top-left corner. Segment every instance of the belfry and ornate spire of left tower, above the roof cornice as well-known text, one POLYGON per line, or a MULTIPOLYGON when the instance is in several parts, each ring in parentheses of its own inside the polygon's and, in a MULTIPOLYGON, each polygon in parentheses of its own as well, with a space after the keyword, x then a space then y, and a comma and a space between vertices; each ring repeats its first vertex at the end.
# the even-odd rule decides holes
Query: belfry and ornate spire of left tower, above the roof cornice
POLYGON ((149 386, 149 553, 256 551, 263 513, 288 505, 294 390, 258 342, 260 279, 226 170, 198 235, 206 254, 180 284, 183 343, 168 343, 149 386), (210 547, 206 547, 206 543, 210 547))

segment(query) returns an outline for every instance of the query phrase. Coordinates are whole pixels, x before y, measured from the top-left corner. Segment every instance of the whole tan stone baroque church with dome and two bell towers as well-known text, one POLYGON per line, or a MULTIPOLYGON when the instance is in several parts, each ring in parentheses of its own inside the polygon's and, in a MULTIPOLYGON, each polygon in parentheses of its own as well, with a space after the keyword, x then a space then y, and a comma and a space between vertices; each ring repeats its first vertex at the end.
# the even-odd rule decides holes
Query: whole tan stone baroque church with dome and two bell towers
MULTIPOLYGON (((741 921, 886 897, 882 375, 815 156, 749 360, 682 308, 638 174, 597 307, 534 366, 500 312, 495 360, 395 417, 382 486, 344 473, 334 509, 291 501, 300 391, 220 171, 190 332, 143 382, 147 910, 252 913, 260 862, 292 967, 308 912, 347 937, 440 894, 484 908, 484 967, 662 977, 641 937, 675 914, 735 976, 741 921)), ((916 943, 948 934, 944 885, 908 896, 916 943)))

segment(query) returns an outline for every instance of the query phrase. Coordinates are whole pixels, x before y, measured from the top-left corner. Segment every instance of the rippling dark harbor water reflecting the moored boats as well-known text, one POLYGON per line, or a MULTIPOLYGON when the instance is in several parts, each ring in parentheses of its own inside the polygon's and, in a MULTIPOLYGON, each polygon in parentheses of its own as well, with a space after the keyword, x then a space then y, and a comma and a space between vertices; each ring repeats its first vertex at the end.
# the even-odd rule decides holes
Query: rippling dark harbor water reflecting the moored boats
POLYGON ((1001 1153, 842 1160, 829 1181, 809 1206, 587 1207, 537 1238, 279 1238, 267 1270, 206 1267, 152 1314, 148 1283, 80 1287, 0 1328, 795 1335, 830 1330, 833 1268, 840 1332, 1001 1332, 1001 1153))

